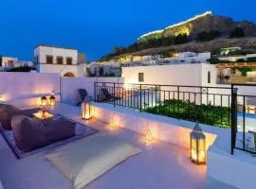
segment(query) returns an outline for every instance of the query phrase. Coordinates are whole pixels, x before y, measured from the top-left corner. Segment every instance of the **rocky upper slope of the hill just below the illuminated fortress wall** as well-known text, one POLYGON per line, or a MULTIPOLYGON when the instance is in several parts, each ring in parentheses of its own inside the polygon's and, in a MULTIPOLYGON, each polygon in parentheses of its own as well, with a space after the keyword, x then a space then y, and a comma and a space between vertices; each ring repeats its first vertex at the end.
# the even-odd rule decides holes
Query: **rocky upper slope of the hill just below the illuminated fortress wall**
POLYGON ((168 26, 162 30, 149 32, 140 36, 137 41, 143 42, 150 39, 159 39, 166 37, 173 37, 179 34, 187 34, 194 37, 200 32, 217 30, 222 35, 229 35, 229 33, 236 27, 244 29, 246 37, 256 36, 256 25, 248 21, 235 22, 229 17, 216 16, 207 11, 201 15, 197 15, 187 21, 168 26))

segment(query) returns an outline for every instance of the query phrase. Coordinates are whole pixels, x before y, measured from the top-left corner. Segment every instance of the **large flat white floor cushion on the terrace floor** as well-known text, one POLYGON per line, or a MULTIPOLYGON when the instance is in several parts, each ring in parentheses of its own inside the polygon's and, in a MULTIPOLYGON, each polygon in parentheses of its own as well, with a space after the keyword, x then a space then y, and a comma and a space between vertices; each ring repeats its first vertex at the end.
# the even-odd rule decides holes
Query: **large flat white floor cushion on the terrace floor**
POLYGON ((140 151, 122 139, 98 133, 47 154, 46 159, 81 189, 140 151))

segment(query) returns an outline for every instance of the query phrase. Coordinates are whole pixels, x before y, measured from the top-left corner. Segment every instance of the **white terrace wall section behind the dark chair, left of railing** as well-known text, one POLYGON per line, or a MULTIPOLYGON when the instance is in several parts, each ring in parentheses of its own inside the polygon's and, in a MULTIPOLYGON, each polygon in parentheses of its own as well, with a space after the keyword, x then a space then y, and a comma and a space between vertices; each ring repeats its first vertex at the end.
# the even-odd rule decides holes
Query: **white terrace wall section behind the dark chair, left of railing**
POLYGON ((76 105, 79 101, 78 89, 85 89, 94 96, 95 82, 123 82, 121 77, 62 77, 62 101, 76 105))

